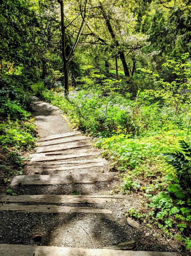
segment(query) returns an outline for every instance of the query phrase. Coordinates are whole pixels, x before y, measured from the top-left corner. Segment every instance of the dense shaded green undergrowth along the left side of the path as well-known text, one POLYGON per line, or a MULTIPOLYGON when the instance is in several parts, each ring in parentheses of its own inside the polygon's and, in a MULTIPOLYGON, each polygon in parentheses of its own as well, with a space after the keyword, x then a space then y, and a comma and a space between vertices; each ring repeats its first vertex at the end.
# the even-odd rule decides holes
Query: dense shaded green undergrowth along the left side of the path
MULTIPOLYGON (((26 81, 27 82, 27 81, 26 81)), ((22 174, 26 152, 34 147, 36 126, 29 112, 32 97, 23 78, 13 74, 0 77, 0 184, 22 174)), ((3 188, 3 187, 2 187, 3 188)), ((7 191, 10 193, 10 191, 7 191)))

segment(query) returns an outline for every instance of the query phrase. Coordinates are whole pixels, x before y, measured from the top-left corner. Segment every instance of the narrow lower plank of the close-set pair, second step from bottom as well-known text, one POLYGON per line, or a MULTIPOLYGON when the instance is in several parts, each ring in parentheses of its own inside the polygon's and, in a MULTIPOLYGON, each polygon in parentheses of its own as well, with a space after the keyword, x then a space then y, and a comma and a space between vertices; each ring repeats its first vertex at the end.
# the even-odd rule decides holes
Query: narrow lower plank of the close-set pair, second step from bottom
POLYGON ((0 211, 17 211, 17 212, 47 212, 47 213, 70 213, 70 212, 81 212, 81 213, 106 213, 111 214, 112 211, 107 209, 98 209, 91 207, 74 207, 74 206, 62 206, 54 204, 0 204, 0 211))

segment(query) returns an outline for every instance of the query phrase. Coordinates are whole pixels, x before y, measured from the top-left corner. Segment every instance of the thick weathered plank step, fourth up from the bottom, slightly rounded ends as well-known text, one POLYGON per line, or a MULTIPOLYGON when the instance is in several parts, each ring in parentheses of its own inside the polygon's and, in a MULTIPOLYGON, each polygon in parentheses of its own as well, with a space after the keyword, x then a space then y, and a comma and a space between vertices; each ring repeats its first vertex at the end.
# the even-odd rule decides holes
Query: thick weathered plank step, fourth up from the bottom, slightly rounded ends
POLYGON ((110 181, 116 173, 80 173, 61 175, 21 175, 15 176, 11 186, 21 185, 57 185, 57 184, 93 184, 110 181))

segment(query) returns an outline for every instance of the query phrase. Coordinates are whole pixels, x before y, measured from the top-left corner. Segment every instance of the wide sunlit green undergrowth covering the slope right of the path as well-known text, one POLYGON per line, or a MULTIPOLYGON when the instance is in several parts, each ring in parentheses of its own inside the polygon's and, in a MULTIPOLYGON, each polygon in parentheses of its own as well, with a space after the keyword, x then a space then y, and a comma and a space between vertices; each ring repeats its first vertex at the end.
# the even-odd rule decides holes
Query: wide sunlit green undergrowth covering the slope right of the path
POLYGON ((165 237, 184 241, 191 249, 191 65, 188 54, 170 59, 164 71, 171 82, 150 70, 140 70, 136 81, 108 79, 87 66, 77 91, 68 100, 44 89, 41 96, 63 109, 73 124, 98 137, 97 146, 112 160, 121 177, 113 192, 142 196, 142 209, 127 215, 165 237), (142 81, 133 97, 130 86, 142 81), (145 88, 143 90, 142 88, 145 88))

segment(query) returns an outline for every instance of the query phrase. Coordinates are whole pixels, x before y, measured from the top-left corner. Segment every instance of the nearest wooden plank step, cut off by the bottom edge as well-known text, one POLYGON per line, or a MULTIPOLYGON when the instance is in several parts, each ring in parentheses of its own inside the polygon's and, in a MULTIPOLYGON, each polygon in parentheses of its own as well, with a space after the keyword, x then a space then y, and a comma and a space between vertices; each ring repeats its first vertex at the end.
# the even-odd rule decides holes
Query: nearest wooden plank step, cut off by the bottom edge
POLYGON ((84 249, 57 246, 31 246, 0 244, 1 256, 176 256, 160 251, 122 251, 109 249, 84 249))

